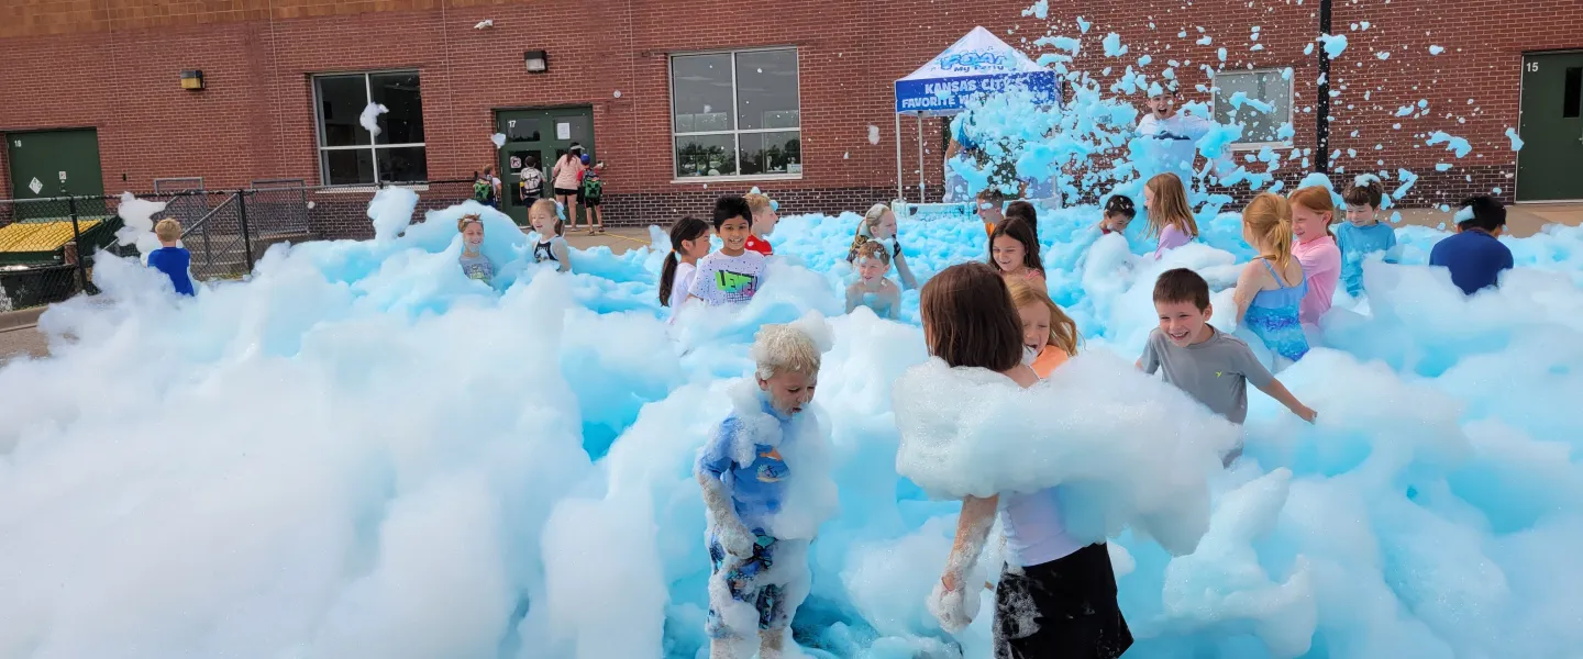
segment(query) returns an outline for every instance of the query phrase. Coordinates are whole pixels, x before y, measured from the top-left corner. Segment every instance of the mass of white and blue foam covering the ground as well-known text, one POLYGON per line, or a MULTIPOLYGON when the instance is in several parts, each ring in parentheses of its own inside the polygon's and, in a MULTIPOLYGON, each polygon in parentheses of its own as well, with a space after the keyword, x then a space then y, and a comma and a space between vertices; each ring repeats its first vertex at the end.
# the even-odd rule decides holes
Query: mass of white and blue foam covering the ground
MULTIPOLYGON (((956 638, 924 608, 956 506, 896 476, 891 382, 924 360, 917 292, 902 322, 839 316, 856 215, 785 218, 752 305, 666 326, 660 251, 533 270, 527 239, 488 215, 491 289, 456 267, 464 209, 397 237, 412 202, 375 202, 377 240, 275 248, 196 299, 101 258, 104 292, 43 316, 52 357, 0 368, 0 657, 692 659, 695 452, 755 327, 809 310, 834 330, 815 403, 842 509, 814 545, 796 640, 989 656, 989 607, 956 638)), ((1048 212, 1040 232, 1086 352, 1114 356, 1084 375, 1114 392, 1137 378, 1154 273, 1230 286, 1249 251, 1235 215, 1205 217, 1206 243, 1164 264, 1097 220, 1048 212)), ((1129 657, 1583 643, 1583 229, 1507 240, 1518 269, 1474 299, 1414 265, 1441 234, 1399 234, 1407 265, 1371 265, 1372 299, 1342 300, 1328 349, 1281 375, 1319 424, 1252 394, 1247 460, 1209 482, 1197 552, 1113 540, 1129 657)), ((948 218, 905 220, 901 242, 920 280, 985 250, 981 224, 948 218)), ((1140 428, 1094 409, 1118 406, 1048 412, 1140 428)))

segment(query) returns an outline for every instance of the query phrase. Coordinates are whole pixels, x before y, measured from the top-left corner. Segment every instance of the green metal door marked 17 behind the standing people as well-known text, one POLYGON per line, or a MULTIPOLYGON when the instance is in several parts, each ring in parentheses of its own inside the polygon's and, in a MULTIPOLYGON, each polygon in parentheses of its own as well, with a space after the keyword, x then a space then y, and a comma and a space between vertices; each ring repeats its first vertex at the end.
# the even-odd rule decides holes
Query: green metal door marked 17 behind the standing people
POLYGON ((527 224, 527 207, 533 199, 552 196, 551 171, 571 144, 581 144, 584 153, 594 155, 592 107, 495 111, 495 131, 505 134, 499 164, 505 186, 500 210, 518 224, 527 224), (522 188, 526 168, 541 172, 543 185, 537 194, 522 188))

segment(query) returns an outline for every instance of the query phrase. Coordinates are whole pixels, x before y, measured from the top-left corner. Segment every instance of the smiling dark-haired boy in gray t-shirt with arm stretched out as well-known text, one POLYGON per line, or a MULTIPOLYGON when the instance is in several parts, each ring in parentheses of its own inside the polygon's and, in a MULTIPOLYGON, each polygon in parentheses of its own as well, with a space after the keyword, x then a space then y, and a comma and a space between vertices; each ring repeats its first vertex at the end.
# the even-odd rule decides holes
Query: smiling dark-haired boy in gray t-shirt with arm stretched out
MULTIPOLYGON (((1197 398, 1209 411, 1241 425, 1247 419, 1247 382, 1285 405, 1292 414, 1314 422, 1315 412, 1304 406, 1241 338, 1217 332, 1209 326, 1209 283, 1187 269, 1167 270, 1154 281, 1154 310, 1160 327, 1149 333, 1149 343, 1138 357, 1145 373, 1165 370, 1165 381, 1197 398)), ((1225 457, 1230 465, 1241 447, 1225 457)))

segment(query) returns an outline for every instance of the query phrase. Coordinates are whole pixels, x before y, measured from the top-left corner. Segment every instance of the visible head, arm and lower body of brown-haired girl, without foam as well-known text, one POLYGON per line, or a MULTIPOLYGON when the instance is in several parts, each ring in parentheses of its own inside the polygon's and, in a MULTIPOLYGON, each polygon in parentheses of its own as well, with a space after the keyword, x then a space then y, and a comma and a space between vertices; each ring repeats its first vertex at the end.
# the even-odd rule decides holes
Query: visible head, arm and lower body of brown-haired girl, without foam
MULTIPOLYGON (((1010 379, 1027 389, 1038 375, 1023 363, 1023 330, 1012 294, 985 264, 942 270, 920 296, 929 354, 951 371, 1010 379)), ((945 574, 929 610, 948 632, 972 623, 980 578, 970 577, 999 515, 1007 564, 996 588, 997 657, 1118 657, 1132 632, 1116 604, 1116 575, 1103 542, 1083 545, 1062 526, 1059 487, 966 496, 945 574)))

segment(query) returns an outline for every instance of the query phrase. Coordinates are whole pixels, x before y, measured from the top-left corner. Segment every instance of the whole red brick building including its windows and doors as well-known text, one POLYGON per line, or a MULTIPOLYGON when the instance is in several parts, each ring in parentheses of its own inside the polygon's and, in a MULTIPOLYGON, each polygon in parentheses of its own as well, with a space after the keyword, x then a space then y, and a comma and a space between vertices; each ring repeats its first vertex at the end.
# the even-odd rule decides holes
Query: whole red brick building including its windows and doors
MULTIPOLYGON (((1032 41, 1046 30, 1083 36, 1075 66, 1111 66, 1111 77, 1145 54, 1151 73, 1178 60, 1187 100, 1216 101, 1228 117, 1225 98, 1197 88, 1211 84, 1200 66, 1213 65, 1220 88, 1290 117, 1290 139, 1273 125, 1251 131, 1289 153, 1315 139, 1319 63, 1304 49, 1317 11, 1319 0, 1048 0, 1048 19, 1007 0, 8 0, 0 196, 30 194, 36 175, 16 169, 55 168, 38 149, 22 153, 32 137, 51 137, 36 131, 76 130, 89 147, 51 147, 54 158, 92 150, 73 152, 71 166, 92 160, 85 179, 100 182, 73 177, 73 193, 147 191, 165 177, 204 177, 211 190, 260 179, 467 179, 513 156, 552 160, 581 141, 608 163, 609 221, 670 221, 754 185, 784 212, 856 210, 896 194, 893 81, 974 25, 1031 55, 1045 52, 1032 41), (1103 55, 1111 32, 1127 55, 1103 55), (540 57, 546 70, 530 71, 540 57), (185 90, 184 71, 201 71, 203 88, 185 90), (369 101, 389 109, 377 141, 358 125, 369 101), (497 131, 508 133, 499 152, 497 131)), ((1575 153, 1564 144, 1567 122, 1580 122, 1583 54, 1564 51, 1583 49, 1583 0, 1338 0, 1333 32, 1349 46, 1330 76, 1331 168, 1410 169, 1420 180, 1409 205, 1496 188, 1507 201, 1583 198, 1570 190, 1583 188, 1583 144, 1575 153), (1553 100, 1526 98, 1531 88, 1553 100), (1556 119, 1520 126, 1523 104, 1540 101, 1556 119), (1523 152, 1521 175, 1509 128, 1545 145, 1523 152), (1434 131, 1464 137, 1471 153, 1428 145, 1434 131)), ((915 134, 904 122, 913 194, 915 134)), ((940 136, 928 122, 932 190, 940 136)), ((1298 169, 1282 172, 1295 180, 1298 169)), ((321 229, 367 231, 366 220, 321 229)))

